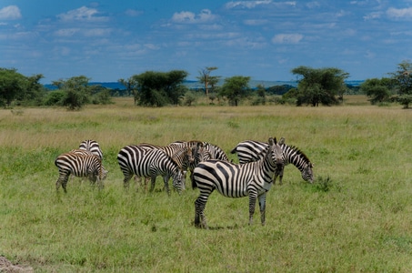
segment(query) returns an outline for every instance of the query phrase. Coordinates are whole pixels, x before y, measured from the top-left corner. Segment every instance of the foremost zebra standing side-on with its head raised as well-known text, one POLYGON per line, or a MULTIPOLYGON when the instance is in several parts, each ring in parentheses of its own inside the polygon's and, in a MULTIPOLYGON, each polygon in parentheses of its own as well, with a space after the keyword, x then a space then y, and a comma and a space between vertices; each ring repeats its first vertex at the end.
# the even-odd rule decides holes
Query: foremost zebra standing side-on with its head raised
POLYGON ((260 218, 265 225, 266 192, 272 186, 276 167, 282 163, 282 148, 276 138, 269 138, 266 156, 256 162, 233 164, 221 160, 201 162, 193 177, 200 195, 195 201, 195 226, 207 228, 205 207, 207 198, 217 189, 225 197, 249 197, 249 225, 253 222, 256 199, 259 200, 260 218))

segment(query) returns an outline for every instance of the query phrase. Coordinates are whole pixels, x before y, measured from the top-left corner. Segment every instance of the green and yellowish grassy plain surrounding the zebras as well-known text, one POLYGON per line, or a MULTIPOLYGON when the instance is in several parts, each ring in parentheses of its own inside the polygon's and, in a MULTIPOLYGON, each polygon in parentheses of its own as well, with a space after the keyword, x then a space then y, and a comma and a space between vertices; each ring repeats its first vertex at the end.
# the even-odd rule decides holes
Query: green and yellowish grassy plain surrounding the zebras
POLYGON ((35 272, 411 272, 412 111, 369 106, 110 106, 0 110, 0 256, 35 272), (167 197, 123 188, 120 148, 199 139, 229 151, 284 136, 315 164, 266 197, 266 226, 247 198, 212 194, 209 230, 193 225, 198 190, 167 197), (55 192, 55 157, 95 139, 109 171, 99 191, 55 192))

